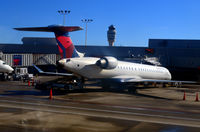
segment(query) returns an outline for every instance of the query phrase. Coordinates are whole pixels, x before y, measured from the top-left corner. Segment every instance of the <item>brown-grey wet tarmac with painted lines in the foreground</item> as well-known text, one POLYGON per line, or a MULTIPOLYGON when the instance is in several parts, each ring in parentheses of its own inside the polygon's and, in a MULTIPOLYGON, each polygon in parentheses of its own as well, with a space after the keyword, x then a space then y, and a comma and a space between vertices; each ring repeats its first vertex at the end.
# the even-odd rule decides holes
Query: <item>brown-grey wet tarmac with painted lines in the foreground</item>
POLYGON ((140 87, 137 93, 37 90, 20 81, 0 82, 0 131, 199 132, 198 85, 140 87), (186 100, 183 100, 184 91, 186 100))

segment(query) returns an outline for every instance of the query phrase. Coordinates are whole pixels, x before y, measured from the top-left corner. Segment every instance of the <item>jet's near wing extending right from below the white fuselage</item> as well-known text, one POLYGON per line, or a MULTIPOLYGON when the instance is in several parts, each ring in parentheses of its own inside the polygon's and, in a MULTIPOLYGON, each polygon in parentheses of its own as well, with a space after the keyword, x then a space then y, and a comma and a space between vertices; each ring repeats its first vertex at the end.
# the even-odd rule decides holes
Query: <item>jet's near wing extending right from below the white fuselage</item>
POLYGON ((116 76, 112 78, 117 82, 122 83, 137 83, 137 82, 158 82, 158 83, 197 83, 195 81, 179 81, 179 80, 157 80, 157 79, 142 79, 139 76, 116 76))

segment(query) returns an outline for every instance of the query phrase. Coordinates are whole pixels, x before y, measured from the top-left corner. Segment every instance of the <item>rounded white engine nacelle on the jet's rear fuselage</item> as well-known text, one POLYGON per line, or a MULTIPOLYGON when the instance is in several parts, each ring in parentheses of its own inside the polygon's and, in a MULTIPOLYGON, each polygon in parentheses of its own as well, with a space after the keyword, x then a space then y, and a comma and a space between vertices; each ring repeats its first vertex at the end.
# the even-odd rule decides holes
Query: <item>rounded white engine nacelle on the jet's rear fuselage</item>
POLYGON ((102 69, 114 69, 118 65, 118 61, 115 57, 102 57, 97 62, 96 65, 102 69))

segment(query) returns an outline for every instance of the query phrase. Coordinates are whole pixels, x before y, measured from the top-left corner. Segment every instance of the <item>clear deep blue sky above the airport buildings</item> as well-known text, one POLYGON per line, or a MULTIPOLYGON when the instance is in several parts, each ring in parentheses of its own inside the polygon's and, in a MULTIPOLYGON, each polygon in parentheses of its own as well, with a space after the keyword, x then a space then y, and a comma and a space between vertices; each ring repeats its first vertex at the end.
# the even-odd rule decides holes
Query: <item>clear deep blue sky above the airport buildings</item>
MULTIPOLYGON (((54 37, 21 32, 15 27, 62 24, 58 10, 70 10, 67 26, 88 24, 87 45, 108 45, 107 30, 116 28, 116 46, 148 46, 148 39, 200 39, 200 0, 0 0, 0 43, 22 43, 22 37, 54 37)), ((84 45, 85 30, 70 33, 84 45)))

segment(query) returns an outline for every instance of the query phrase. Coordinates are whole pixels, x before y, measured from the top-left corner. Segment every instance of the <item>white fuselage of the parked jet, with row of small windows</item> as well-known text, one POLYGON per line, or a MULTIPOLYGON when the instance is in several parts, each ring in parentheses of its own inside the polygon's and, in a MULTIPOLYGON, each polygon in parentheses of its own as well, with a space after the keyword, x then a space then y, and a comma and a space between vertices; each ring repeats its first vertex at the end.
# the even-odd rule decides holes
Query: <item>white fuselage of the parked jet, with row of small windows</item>
POLYGON ((170 72, 164 67, 118 61, 116 68, 102 69, 96 65, 98 60, 99 58, 95 57, 82 57, 62 59, 59 63, 63 65, 64 69, 89 79, 133 77, 138 79, 171 80, 170 72))

